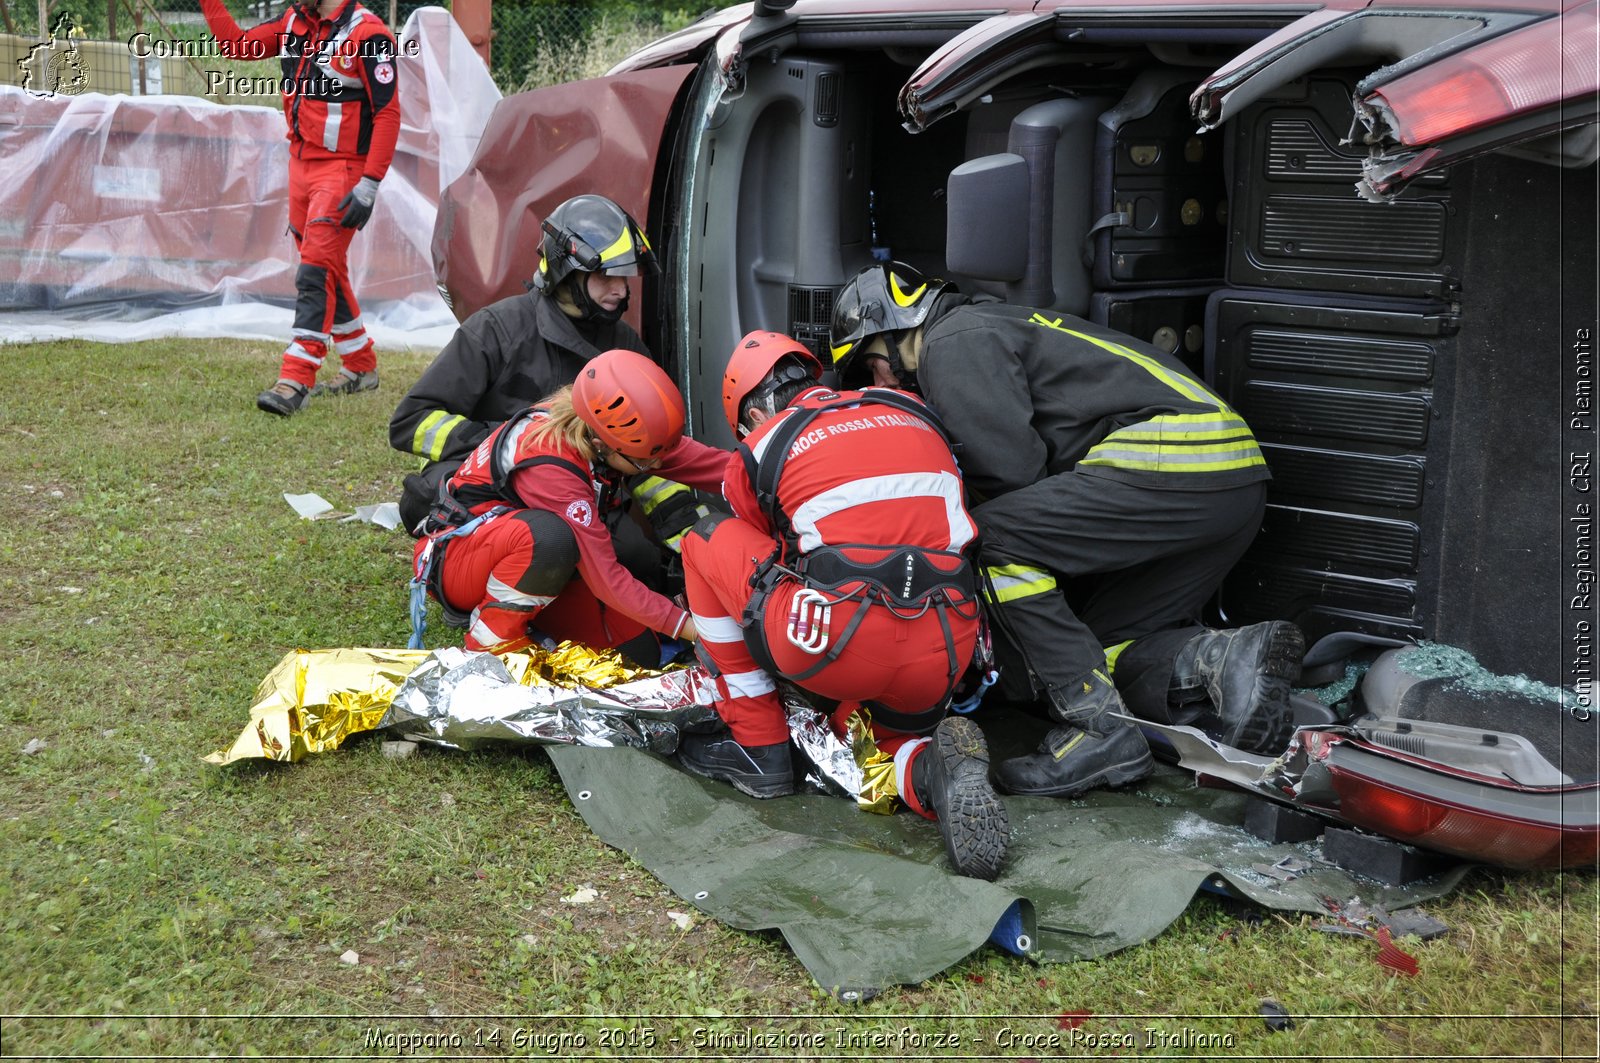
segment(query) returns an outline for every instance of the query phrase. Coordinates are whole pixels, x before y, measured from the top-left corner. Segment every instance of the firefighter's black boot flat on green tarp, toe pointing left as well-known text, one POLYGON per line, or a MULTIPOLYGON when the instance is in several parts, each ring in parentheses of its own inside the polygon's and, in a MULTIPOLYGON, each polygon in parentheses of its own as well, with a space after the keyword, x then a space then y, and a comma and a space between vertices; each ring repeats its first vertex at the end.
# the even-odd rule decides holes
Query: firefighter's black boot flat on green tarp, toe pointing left
POLYGON ((1155 767, 1150 746, 1126 714, 1117 687, 1101 671, 1075 680, 1070 690, 1050 688, 1050 714, 1061 720, 1038 752, 1011 757, 995 767, 1000 789, 1035 797, 1074 797, 1096 786, 1123 786, 1155 767))

